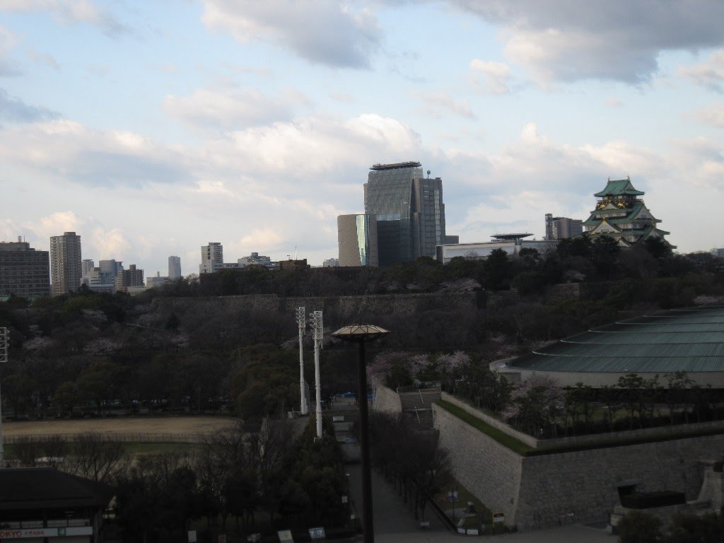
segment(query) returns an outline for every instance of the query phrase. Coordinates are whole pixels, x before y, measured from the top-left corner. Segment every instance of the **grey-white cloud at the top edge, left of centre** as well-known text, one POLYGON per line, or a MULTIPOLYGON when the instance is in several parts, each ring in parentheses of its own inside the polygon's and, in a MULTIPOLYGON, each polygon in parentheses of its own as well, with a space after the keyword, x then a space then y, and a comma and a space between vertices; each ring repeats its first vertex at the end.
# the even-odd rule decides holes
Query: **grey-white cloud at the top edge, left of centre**
POLYGON ((369 66, 379 28, 369 9, 353 12, 336 0, 204 0, 203 22, 242 43, 276 41, 310 62, 369 66))

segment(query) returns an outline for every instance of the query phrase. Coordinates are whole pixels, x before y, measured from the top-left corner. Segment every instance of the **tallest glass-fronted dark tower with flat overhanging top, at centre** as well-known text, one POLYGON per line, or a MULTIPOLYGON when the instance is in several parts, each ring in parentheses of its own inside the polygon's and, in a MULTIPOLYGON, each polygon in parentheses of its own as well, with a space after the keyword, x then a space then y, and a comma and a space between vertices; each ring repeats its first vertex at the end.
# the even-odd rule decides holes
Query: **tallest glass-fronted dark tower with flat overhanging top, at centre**
POLYGON ((424 177, 419 162, 375 164, 364 185, 365 214, 377 219, 379 266, 435 258, 445 243, 442 180, 424 177))

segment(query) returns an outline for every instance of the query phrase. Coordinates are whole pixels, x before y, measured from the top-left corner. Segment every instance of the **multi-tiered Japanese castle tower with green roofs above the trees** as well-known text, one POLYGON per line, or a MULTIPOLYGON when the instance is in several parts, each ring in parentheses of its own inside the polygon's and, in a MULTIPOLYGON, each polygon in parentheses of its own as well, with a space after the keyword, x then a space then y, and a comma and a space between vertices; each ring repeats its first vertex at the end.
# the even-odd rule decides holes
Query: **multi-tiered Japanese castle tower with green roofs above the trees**
POLYGON ((596 209, 584 221, 585 232, 589 235, 605 234, 613 237, 620 245, 631 247, 647 237, 663 239, 669 232, 659 230, 656 219, 639 196, 641 190, 631 185, 631 178, 612 181, 594 196, 599 198, 596 209))

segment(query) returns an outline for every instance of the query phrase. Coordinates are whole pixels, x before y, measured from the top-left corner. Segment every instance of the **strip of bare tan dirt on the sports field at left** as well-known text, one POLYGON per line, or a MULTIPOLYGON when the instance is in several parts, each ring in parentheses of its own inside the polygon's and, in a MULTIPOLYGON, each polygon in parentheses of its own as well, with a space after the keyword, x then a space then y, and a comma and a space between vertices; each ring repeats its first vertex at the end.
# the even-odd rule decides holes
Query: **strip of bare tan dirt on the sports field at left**
POLYGON ((237 419, 228 417, 119 417, 88 418, 61 421, 6 421, 4 435, 83 434, 208 434, 218 429, 231 428, 237 419))

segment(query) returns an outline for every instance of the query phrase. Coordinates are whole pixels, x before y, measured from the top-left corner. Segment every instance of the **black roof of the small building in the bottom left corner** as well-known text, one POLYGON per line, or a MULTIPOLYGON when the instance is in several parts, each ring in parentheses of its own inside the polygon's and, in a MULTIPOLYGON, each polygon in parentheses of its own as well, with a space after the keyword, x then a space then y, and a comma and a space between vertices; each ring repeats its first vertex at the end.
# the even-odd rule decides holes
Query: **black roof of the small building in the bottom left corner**
POLYGON ((105 508, 114 489, 53 468, 0 468, 0 510, 105 508))

